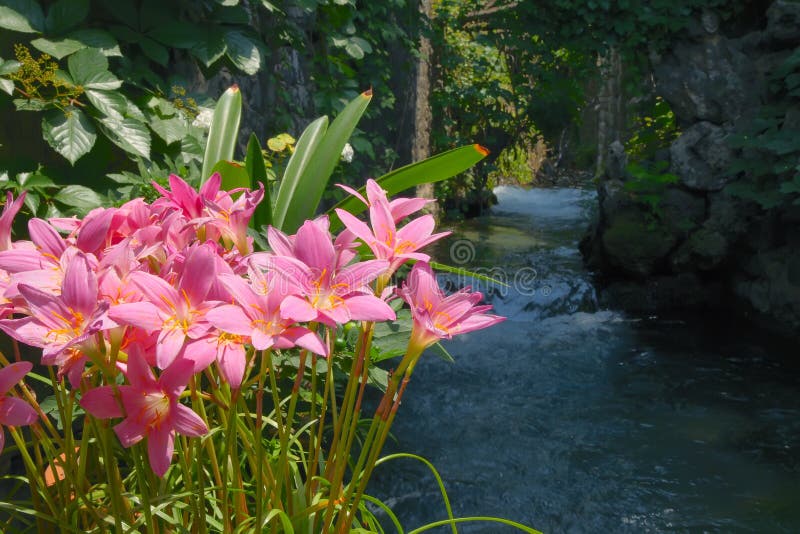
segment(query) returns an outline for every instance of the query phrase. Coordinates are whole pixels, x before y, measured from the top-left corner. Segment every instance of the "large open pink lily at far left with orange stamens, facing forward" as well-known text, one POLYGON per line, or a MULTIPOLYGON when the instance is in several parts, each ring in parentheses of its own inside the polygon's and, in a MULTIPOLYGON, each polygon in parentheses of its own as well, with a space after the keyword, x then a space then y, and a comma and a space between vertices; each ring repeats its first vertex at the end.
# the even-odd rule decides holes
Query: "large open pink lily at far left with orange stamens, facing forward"
POLYGON ((75 254, 67 265, 60 295, 20 284, 30 316, 0 321, 0 329, 9 336, 44 349, 42 363, 59 365, 59 375, 70 372, 73 386, 80 382, 80 372, 87 351, 96 350, 94 335, 115 328, 108 317, 108 302, 98 302, 97 277, 83 253, 75 254), (77 349, 72 351, 71 349, 77 349), (70 356, 65 365, 65 356, 70 356), (77 357, 79 362, 73 362, 77 357), (73 367, 73 365, 75 367, 73 367))

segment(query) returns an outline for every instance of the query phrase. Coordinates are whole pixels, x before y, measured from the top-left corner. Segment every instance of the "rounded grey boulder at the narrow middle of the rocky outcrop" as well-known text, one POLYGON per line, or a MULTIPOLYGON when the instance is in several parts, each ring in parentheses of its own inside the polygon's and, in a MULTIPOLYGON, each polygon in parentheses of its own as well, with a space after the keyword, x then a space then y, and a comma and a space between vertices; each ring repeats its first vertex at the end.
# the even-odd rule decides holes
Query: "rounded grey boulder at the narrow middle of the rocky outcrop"
POLYGON ((715 191, 731 179, 725 176, 732 159, 725 128, 710 122, 692 125, 670 147, 670 170, 690 189, 715 191))

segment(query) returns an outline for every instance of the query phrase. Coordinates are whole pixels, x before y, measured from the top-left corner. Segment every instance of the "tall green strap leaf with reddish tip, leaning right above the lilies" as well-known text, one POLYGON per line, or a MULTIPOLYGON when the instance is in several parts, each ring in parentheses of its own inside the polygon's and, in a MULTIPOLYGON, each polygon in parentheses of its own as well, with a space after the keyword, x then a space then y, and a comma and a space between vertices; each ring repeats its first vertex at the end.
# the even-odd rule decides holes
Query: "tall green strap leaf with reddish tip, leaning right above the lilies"
POLYGON ((325 186, 333 169, 339 163, 342 149, 350 139, 370 100, 372 91, 361 93, 350 101, 331 123, 289 199, 286 215, 280 226, 281 230, 294 233, 304 220, 311 218, 317 211, 325 186))

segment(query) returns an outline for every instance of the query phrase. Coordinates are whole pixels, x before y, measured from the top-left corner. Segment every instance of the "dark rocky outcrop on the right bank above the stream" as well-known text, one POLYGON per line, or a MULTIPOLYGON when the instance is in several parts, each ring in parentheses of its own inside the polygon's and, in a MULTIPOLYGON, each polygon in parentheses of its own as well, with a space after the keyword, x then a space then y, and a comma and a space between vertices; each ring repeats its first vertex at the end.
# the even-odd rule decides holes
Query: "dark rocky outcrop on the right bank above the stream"
MULTIPOLYGON (((601 300, 627 309, 733 304, 800 333, 800 206, 732 194, 732 136, 771 106, 770 75, 800 44, 800 3, 777 0, 752 31, 726 36, 711 11, 667 53, 653 56, 656 90, 681 135, 659 159, 677 179, 642 189, 612 144, 597 184, 598 217, 581 244, 601 300)), ((800 110, 783 128, 800 132, 800 110)))

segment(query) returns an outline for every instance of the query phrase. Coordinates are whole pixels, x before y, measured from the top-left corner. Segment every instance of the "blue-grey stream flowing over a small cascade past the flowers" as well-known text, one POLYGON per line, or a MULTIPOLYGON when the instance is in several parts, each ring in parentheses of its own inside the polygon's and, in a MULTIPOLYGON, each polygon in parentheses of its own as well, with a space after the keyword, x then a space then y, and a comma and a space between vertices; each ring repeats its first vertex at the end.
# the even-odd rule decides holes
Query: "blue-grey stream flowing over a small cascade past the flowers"
MULTIPOLYGON (((796 347, 716 314, 598 309, 577 251, 594 193, 495 193, 493 214, 437 259, 507 282, 479 285, 508 320, 448 343, 454 364, 423 358, 389 449, 430 460, 456 516, 553 533, 800 532, 796 347)), ((407 529, 446 517, 417 462, 380 466, 371 490, 407 529)))

